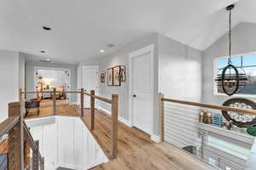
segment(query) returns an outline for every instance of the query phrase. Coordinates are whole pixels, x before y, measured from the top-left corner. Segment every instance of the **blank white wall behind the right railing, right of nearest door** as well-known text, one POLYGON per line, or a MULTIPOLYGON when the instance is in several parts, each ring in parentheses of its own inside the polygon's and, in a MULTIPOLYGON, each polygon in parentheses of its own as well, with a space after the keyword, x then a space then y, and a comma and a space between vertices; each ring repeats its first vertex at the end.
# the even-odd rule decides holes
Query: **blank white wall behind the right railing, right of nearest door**
MULTIPOLYGON (((166 98, 201 102, 201 51, 159 36, 159 88, 166 98)), ((183 148, 198 140, 200 109, 165 102, 165 140, 183 148)))

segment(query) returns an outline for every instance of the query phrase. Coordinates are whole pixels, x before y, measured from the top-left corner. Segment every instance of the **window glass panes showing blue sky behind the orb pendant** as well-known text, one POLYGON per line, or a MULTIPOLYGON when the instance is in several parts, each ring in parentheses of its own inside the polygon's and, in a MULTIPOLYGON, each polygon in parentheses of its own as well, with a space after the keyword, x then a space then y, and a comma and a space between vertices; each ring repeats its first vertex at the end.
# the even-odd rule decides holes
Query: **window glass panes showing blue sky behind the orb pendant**
MULTIPOLYGON (((243 69, 247 74, 247 86, 243 89, 240 94, 256 95, 256 54, 247 54, 232 57, 232 65, 243 69)), ((226 65, 228 65, 228 58, 219 58, 215 61, 217 70, 215 76, 221 71, 226 65)), ((215 94, 223 94, 221 88, 218 88, 215 84, 215 94)))

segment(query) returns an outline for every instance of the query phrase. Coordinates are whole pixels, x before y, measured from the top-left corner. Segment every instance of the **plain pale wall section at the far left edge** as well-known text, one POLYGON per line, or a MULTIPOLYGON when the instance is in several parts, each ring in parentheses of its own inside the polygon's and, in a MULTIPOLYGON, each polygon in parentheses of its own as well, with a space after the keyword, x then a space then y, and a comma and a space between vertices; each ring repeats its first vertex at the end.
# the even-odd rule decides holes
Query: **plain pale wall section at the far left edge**
POLYGON ((0 122, 8 117, 8 103, 19 100, 19 53, 0 50, 0 122))

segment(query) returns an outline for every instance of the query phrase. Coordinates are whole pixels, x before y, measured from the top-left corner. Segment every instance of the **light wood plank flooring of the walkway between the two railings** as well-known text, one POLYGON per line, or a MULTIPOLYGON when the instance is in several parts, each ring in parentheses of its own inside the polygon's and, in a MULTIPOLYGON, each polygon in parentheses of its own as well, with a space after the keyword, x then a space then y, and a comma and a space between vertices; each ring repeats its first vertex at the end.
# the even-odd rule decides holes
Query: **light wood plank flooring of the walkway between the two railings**
MULTIPOLYGON (((90 128, 90 110, 84 111, 83 121, 90 128)), ((110 116, 95 111, 96 126, 91 131, 102 150, 109 153, 110 116)), ((172 144, 156 144, 146 133, 119 122, 118 156, 93 170, 208 170, 214 169, 178 150, 172 144)))

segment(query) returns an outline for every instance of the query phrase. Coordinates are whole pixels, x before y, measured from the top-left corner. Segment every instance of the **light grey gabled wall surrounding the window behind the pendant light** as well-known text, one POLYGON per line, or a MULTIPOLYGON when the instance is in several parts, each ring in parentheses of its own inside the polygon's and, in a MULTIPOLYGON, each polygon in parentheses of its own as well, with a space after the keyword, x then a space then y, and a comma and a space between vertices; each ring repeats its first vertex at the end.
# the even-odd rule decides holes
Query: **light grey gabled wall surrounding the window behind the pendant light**
MULTIPOLYGON (((256 24, 240 23, 232 30, 232 54, 256 54, 256 24)), ((230 99, 227 95, 213 94, 213 60, 229 55, 228 34, 219 38, 203 54, 203 91, 202 99, 205 103, 222 105, 230 99)), ((255 100, 255 99, 254 99, 255 100)))

